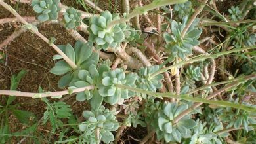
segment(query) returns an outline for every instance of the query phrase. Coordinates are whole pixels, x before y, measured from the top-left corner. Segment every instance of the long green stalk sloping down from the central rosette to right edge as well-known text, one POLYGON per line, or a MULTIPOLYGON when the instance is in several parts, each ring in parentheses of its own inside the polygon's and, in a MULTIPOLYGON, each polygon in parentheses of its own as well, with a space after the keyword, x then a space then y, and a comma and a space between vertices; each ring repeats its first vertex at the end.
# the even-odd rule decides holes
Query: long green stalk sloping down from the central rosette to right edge
POLYGON ((150 96, 155 96, 157 98, 165 97, 165 98, 178 98, 178 99, 184 99, 186 101, 192 101, 192 102, 198 102, 198 103, 208 103, 211 105, 219 105, 222 107, 232 107, 236 109, 242 109, 244 111, 254 112, 256 109, 254 107, 249 107, 247 105, 242 105, 238 103, 230 103, 228 101, 214 101, 214 100, 207 100, 202 98, 193 98, 190 97, 188 94, 182 94, 182 95, 175 95, 172 93, 160 93, 160 92, 150 92, 147 90, 143 90, 140 88, 131 88, 130 86, 120 85, 116 84, 117 88, 123 88, 125 90, 131 90, 133 92, 139 92, 143 94, 148 94, 150 96))

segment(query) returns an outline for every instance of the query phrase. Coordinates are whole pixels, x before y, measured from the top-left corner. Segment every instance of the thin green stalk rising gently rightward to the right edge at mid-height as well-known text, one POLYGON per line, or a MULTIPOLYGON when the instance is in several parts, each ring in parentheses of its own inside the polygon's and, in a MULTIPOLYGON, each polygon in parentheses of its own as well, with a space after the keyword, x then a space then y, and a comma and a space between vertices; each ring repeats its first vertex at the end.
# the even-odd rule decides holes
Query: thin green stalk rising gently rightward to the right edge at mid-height
POLYGON ((248 47, 245 47, 245 48, 236 48, 234 50, 228 50, 228 51, 225 51, 225 52, 219 52, 217 54, 211 54, 209 56, 202 56, 200 58, 194 58, 194 59, 191 59, 191 60, 181 61, 181 62, 179 62, 179 63, 177 63, 175 65, 171 65, 169 67, 165 67, 163 69, 160 69, 160 70, 156 71, 155 73, 150 75, 150 77, 156 77, 156 75, 159 75, 160 73, 163 73, 165 71, 168 71, 169 69, 172 69, 174 67, 179 67, 179 66, 187 64, 187 63, 198 62, 198 61, 206 60, 206 59, 209 59, 209 58, 217 58, 219 56, 224 56, 226 54, 231 54, 231 53, 234 53, 234 52, 240 52, 242 50, 249 50, 249 49, 254 49, 254 48, 256 48, 256 46, 248 46, 248 47))

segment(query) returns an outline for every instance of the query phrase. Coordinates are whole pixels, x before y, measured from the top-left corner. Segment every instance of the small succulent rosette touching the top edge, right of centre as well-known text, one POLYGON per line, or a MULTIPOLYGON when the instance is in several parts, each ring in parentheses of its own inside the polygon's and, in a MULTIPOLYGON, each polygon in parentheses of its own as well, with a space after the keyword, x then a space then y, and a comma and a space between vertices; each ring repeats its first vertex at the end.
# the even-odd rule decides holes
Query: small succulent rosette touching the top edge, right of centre
POLYGON ((182 19, 184 16, 189 15, 191 9, 192 3, 190 1, 186 1, 185 3, 175 4, 173 12, 177 12, 179 19, 182 19))

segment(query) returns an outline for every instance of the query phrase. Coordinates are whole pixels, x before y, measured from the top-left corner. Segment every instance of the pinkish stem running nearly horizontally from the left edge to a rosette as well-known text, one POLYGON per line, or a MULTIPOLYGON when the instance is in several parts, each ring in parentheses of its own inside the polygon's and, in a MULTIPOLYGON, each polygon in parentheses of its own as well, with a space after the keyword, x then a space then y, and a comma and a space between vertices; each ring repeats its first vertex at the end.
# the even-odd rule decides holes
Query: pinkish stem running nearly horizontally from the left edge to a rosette
MULTIPOLYGON (((83 92, 85 90, 92 90, 94 86, 85 86, 83 88, 77 88, 72 91, 72 94, 77 92, 83 92)), ((30 97, 33 98, 36 94, 40 94, 38 98, 43 97, 54 97, 54 96, 62 96, 65 94, 70 94, 69 90, 63 90, 59 92, 46 92, 46 93, 33 93, 33 92, 20 92, 15 90, 0 90, 0 95, 7 95, 7 96, 22 96, 22 97, 30 97)))

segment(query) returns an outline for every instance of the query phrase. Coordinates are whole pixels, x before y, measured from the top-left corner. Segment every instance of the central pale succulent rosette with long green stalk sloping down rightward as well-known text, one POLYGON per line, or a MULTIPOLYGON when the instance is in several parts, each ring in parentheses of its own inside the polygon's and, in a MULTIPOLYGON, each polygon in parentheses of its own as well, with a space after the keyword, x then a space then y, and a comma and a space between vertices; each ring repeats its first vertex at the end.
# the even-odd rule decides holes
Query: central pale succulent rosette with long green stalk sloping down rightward
POLYGON ((115 84, 122 84, 126 86, 135 87, 135 81, 137 74, 129 73, 125 75, 125 72, 121 69, 115 69, 114 71, 108 71, 103 73, 102 86, 100 86, 98 92, 104 97, 106 103, 114 105, 117 102, 128 99, 135 95, 135 92, 117 88, 115 84))

